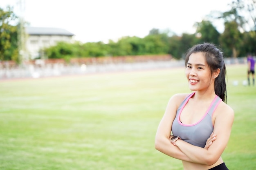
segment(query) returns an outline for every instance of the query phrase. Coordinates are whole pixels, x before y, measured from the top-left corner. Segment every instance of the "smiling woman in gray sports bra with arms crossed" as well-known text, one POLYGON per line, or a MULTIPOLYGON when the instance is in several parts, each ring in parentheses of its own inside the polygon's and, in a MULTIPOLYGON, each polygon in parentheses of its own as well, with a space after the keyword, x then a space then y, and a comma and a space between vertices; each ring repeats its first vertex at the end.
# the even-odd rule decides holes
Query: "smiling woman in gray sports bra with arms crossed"
POLYGON ((186 53, 185 65, 193 93, 171 97, 157 129, 155 148, 182 160, 184 170, 228 170, 221 155, 234 111, 226 104, 222 52, 213 44, 195 45, 186 53))

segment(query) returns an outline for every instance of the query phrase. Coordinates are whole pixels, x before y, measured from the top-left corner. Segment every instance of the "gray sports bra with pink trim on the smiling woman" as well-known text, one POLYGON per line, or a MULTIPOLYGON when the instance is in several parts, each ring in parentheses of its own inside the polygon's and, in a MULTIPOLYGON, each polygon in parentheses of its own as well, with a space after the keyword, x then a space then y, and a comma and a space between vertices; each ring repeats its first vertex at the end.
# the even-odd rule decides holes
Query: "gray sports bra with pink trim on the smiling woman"
POLYGON ((180 114, 186 103, 194 94, 195 92, 188 95, 177 109, 176 117, 172 125, 172 132, 174 136, 179 136, 182 140, 192 145, 204 148, 207 139, 210 137, 211 132, 213 132, 213 112, 217 108, 218 104, 222 101, 222 99, 220 99, 220 97, 216 95, 216 97, 211 102, 211 105, 209 106, 207 112, 197 123, 182 124, 182 122, 180 121, 180 114))

